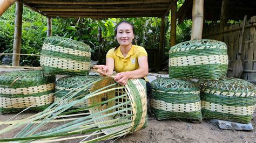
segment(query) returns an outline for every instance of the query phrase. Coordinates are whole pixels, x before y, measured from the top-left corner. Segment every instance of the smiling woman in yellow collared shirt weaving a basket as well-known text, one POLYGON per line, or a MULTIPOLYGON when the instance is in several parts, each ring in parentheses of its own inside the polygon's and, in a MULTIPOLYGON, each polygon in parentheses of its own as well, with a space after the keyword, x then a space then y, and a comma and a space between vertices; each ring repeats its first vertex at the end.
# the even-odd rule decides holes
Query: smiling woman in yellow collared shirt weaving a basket
POLYGON ((117 75, 114 81, 121 85, 127 84, 129 78, 142 78, 149 74, 147 53, 143 47, 132 45, 134 39, 134 27, 129 22, 120 22, 114 30, 120 46, 112 48, 106 54, 106 66, 95 66, 106 74, 117 75))

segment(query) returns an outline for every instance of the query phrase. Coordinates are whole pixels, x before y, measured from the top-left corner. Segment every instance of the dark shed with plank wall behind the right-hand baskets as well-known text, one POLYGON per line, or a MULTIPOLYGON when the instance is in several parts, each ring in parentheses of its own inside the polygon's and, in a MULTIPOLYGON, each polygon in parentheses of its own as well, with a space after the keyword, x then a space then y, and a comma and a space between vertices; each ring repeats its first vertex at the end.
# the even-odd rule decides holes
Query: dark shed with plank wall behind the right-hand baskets
MULTIPOLYGON (((177 13, 178 22, 191 19, 192 2, 186 0, 177 13)), ((233 66, 239 52, 241 41, 241 55, 243 73, 240 78, 256 82, 256 1, 231 1, 231 0, 205 0, 204 23, 202 39, 215 39, 227 44, 228 74, 233 76, 233 66), (241 22, 247 15, 247 20, 242 33, 242 23, 228 24, 228 20, 241 22), (243 35, 243 36, 242 36, 243 35)))

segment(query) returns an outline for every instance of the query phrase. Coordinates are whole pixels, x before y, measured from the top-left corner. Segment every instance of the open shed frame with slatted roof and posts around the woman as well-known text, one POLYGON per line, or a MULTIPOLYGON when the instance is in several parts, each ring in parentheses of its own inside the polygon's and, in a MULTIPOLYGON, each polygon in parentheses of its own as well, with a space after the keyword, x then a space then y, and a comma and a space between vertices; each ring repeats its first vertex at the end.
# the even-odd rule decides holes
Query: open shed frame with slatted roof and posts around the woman
MULTIPOLYGON (((14 3, 16 0, 10 0, 14 3)), ((7 2, 6 2, 7 3, 7 2)), ((14 41, 14 53, 20 52, 22 5, 48 17, 48 36, 51 36, 51 18, 55 17, 82 17, 82 18, 127 18, 127 17, 160 17, 161 32, 158 49, 147 49, 149 53, 149 66, 159 69, 163 64, 164 20, 171 9, 176 15, 177 0, 18 0, 16 2, 16 29, 17 36, 14 41)), ((1 12, 0 12, 1 13, 1 12)), ((1 15, 0 15, 1 16, 1 15)), ((174 18, 176 16, 173 16, 174 18)), ((176 18, 172 32, 172 45, 176 42, 176 18)), ((12 65, 19 65, 19 55, 13 56, 12 65)))

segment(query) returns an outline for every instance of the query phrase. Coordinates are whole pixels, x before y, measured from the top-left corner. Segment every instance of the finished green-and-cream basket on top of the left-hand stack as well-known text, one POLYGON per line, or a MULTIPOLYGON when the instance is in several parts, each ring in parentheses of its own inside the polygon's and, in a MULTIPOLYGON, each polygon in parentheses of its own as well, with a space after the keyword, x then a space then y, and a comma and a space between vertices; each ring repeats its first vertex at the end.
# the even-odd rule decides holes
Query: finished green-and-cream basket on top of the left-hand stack
POLYGON ((91 49, 83 42, 48 37, 44 40, 40 57, 41 67, 46 73, 63 75, 88 75, 91 49))

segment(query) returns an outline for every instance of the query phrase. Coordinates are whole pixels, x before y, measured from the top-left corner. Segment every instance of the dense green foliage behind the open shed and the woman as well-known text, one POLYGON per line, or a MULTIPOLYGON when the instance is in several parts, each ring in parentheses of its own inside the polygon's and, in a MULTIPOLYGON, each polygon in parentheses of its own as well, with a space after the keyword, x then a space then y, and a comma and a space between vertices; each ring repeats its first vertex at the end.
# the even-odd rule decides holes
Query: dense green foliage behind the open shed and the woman
MULTIPOLYGON (((178 5, 179 7, 179 5, 178 5)), ((170 49, 170 16, 165 21, 165 59, 170 49)), ((53 18, 52 35, 83 41, 90 45, 92 60, 104 64, 106 52, 117 46, 114 39, 114 27, 120 20, 134 25, 134 44, 145 48, 159 48, 161 18, 53 18), (100 32, 102 40, 99 39, 100 32)), ((0 52, 12 53, 14 41, 15 5, 12 5, 0 17, 0 52)), ((191 22, 185 22, 177 28, 177 42, 189 40, 191 22)), ((23 6, 21 53, 39 54, 46 38, 46 17, 23 6)), ((3 58, 3 57, 2 57, 3 58)), ((21 56, 21 66, 39 66, 39 57, 21 56)))

